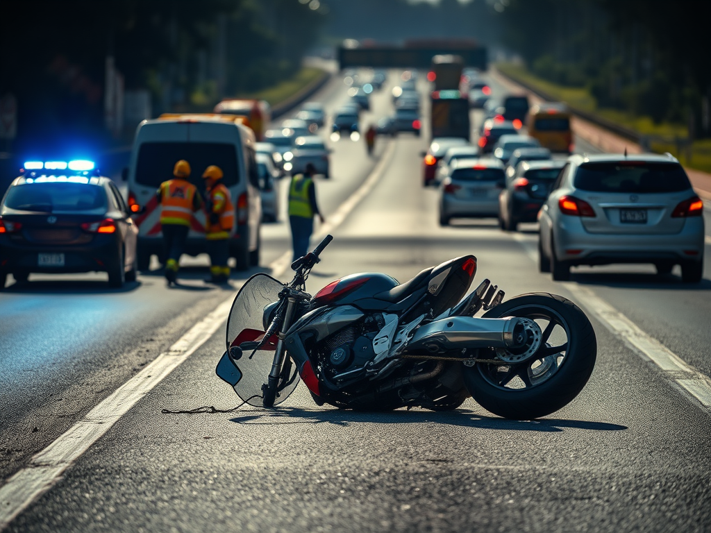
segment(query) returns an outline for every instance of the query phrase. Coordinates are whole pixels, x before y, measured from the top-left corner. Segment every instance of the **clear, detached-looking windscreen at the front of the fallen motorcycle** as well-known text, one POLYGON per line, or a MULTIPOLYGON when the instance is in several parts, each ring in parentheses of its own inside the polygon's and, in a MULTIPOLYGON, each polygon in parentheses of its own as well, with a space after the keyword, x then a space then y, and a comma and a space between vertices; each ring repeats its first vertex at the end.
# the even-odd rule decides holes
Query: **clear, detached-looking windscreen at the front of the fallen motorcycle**
MULTIPOLYGON (((255 274, 247 280, 232 303, 227 323, 228 350, 231 346, 264 338, 262 325, 264 307, 278 301, 282 289, 284 284, 267 274, 255 274)), ((267 382, 269 372, 272 370, 274 349, 277 345, 275 337, 269 339, 261 350, 244 350, 239 358, 234 359, 234 365, 241 377, 232 388, 243 402, 256 407, 262 406, 262 385, 267 382)), ((284 402, 294 392, 297 384, 299 384, 299 373, 296 372, 296 365, 287 357, 274 405, 284 402)))

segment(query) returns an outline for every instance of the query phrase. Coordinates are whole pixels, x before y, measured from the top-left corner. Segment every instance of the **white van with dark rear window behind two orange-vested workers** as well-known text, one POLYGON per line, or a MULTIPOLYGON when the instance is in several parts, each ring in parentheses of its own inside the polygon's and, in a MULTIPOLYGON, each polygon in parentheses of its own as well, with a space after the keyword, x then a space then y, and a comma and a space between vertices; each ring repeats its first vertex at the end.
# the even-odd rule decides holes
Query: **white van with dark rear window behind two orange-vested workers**
MULTIPOLYGON (((259 264, 262 203, 255 160, 255 134, 240 117, 215 114, 164 114, 144 120, 136 138, 127 169, 128 203, 139 227, 138 268, 147 270, 151 254, 164 257, 160 204, 156 190, 173 178, 176 161, 190 163, 190 181, 205 198, 203 171, 209 165, 222 168, 223 183, 235 205, 235 227, 230 235, 230 257, 237 270, 259 264)), ((205 252, 205 212, 193 217, 184 253, 205 252)))

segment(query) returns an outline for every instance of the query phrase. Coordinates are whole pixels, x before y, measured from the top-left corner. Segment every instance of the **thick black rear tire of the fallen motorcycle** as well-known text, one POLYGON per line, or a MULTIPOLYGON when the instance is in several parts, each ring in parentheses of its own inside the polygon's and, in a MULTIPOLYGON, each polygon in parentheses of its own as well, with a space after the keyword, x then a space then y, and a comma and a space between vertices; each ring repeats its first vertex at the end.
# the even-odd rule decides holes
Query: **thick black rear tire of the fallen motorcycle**
MULTIPOLYGON (((533 420, 570 403, 587 383, 597 357, 597 339, 592 324, 578 306, 562 296, 522 294, 501 303, 483 317, 525 317, 537 314, 536 311, 540 314, 552 311, 552 315, 557 315, 567 325, 565 358, 544 382, 523 389, 506 389, 486 379, 483 363, 463 369, 464 384, 474 401, 506 419, 533 420)), ((491 355, 494 355, 493 350, 491 355)))

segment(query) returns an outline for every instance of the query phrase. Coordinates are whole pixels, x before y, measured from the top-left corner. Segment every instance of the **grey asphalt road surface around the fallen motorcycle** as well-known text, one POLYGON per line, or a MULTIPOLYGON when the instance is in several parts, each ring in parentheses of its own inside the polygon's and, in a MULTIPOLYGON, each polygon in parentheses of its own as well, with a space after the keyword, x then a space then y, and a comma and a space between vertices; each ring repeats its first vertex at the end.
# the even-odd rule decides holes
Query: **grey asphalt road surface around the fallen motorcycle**
MULTIPOLYGON (((392 72, 361 124, 391 111, 396 82, 392 72)), ((345 102, 341 78, 318 99, 330 110, 345 102)), ((478 125, 481 112, 472 116, 478 125)), ((226 306, 256 271, 289 278, 282 214, 263 227, 262 267, 233 274, 230 289, 203 284, 205 257, 186 258, 178 289, 159 270, 118 292, 102 274, 33 275, 6 289, 0 529, 711 530, 708 262, 693 286, 651 266, 579 267, 555 283, 538 273, 535 225, 437 225, 437 190, 421 185, 427 133, 378 139, 373 158, 362 139, 329 141, 333 178, 317 183, 327 219, 317 232, 335 240, 307 289, 357 271, 406 281, 474 254, 476 279, 508 297, 561 294, 591 318, 597 365, 574 402, 529 422, 471 399, 449 413, 369 414, 316 407, 300 384, 274 411, 162 413, 237 405, 214 374, 226 306)))

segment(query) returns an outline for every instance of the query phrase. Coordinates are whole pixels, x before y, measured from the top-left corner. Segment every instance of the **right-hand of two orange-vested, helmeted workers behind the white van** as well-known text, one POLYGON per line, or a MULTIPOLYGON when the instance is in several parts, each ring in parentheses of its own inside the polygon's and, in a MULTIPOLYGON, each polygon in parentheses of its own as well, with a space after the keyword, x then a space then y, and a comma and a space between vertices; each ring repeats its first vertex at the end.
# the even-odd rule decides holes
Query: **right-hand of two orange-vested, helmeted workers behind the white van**
POLYGON ((203 173, 205 179, 205 238, 210 255, 208 283, 222 284, 230 279, 230 233, 235 225, 235 206, 230 191, 222 183, 222 168, 210 165, 203 173))

